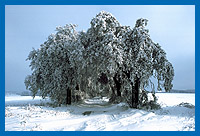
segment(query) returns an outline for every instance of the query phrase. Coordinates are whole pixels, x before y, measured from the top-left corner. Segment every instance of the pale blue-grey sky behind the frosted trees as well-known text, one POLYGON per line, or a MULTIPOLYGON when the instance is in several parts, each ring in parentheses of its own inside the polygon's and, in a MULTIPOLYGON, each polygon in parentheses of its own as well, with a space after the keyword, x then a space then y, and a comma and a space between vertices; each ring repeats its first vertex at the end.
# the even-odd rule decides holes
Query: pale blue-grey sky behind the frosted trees
POLYGON ((39 48, 56 26, 72 23, 78 25, 77 30, 87 30, 102 10, 131 27, 138 18, 148 19, 151 38, 162 46, 174 66, 174 89, 195 88, 195 6, 8 5, 5 10, 6 90, 25 90, 24 79, 31 73, 25 60, 32 47, 39 48))

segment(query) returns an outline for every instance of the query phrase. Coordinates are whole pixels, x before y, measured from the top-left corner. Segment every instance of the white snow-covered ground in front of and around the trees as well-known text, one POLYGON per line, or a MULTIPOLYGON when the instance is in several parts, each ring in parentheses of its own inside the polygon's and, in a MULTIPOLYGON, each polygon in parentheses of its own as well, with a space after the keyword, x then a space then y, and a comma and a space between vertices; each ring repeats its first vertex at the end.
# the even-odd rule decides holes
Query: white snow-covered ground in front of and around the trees
POLYGON ((124 103, 90 99, 50 107, 49 100, 5 97, 6 131, 194 131, 195 94, 157 93, 159 110, 130 109, 124 103), (181 104, 182 103, 182 104, 181 104), (184 103, 184 104, 183 104, 184 103))

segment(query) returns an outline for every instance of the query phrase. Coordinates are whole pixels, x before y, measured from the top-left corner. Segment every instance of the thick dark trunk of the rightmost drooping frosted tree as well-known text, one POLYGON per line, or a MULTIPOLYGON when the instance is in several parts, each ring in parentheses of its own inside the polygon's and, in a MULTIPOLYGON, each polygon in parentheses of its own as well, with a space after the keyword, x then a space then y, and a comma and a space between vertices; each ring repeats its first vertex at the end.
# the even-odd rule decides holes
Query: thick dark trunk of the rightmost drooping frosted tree
POLYGON ((137 108, 138 106, 139 88, 140 88, 140 81, 139 81, 139 78, 136 78, 134 86, 132 83, 132 108, 137 108))

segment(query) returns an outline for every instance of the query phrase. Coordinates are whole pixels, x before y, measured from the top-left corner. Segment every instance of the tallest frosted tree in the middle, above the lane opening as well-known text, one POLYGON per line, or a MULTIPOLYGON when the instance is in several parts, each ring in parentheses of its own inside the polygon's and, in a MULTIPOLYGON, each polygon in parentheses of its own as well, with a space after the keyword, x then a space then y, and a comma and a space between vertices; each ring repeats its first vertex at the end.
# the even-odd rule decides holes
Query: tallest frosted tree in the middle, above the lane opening
POLYGON ((90 89, 87 93, 92 96, 101 93, 100 90, 109 93, 113 88, 113 77, 118 71, 118 65, 122 64, 123 50, 116 35, 120 26, 112 14, 102 11, 91 20, 91 27, 83 34, 83 76, 89 80, 87 87, 90 89))

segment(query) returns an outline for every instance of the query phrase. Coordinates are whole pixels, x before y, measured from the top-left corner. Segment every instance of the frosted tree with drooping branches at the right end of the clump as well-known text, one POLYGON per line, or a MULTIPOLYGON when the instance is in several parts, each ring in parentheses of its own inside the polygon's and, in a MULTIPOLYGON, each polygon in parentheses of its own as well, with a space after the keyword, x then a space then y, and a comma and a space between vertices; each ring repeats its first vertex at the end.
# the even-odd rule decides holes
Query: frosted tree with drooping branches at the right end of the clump
POLYGON ((140 90, 152 85, 154 93, 152 76, 158 80, 158 90, 162 86, 166 91, 171 90, 174 76, 166 53, 151 40, 146 25, 147 19, 138 19, 135 27, 126 31, 123 44, 125 61, 122 72, 126 76, 124 79, 128 80, 125 81, 124 97, 133 108, 139 104, 140 90))

